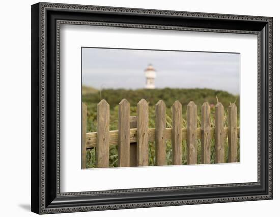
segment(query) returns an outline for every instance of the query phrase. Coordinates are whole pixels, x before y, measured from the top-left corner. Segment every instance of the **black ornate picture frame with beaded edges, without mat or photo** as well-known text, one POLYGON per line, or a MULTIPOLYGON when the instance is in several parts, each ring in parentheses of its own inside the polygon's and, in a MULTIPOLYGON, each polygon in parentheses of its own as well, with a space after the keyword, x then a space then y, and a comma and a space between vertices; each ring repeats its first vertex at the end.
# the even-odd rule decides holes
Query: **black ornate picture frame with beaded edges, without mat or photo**
POLYGON ((272 199, 272 17, 54 3, 32 5, 31 15, 33 212, 47 214, 272 199), (257 35, 258 181, 61 193, 61 24, 257 35))

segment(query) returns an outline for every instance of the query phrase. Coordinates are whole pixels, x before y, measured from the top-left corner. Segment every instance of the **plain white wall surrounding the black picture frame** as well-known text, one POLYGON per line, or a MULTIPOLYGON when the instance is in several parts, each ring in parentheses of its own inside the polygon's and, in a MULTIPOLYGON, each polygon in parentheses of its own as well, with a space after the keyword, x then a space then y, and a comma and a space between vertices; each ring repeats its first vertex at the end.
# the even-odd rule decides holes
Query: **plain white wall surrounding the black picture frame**
MULTIPOLYGON (((274 54, 274 199, 236 203, 189 205, 52 216, 277 216, 280 204, 279 97, 280 14, 277 1, 149 1, 82 0, 55 1, 73 4, 135 7, 194 12, 273 17, 274 54), (278 100, 277 100, 278 98, 278 100)), ((1 4, 0 34, 0 204, 2 216, 35 216, 30 212, 30 5, 36 1, 5 1, 1 4)))

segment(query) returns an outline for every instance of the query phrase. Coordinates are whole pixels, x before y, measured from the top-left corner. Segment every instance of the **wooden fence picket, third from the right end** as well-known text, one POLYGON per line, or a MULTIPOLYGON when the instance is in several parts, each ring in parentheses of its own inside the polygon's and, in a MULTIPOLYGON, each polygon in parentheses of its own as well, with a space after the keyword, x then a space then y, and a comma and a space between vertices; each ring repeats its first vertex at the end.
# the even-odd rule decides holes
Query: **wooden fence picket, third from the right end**
POLYGON ((201 107, 201 163, 210 164, 211 152, 210 152, 210 106, 207 102, 204 102, 201 107))

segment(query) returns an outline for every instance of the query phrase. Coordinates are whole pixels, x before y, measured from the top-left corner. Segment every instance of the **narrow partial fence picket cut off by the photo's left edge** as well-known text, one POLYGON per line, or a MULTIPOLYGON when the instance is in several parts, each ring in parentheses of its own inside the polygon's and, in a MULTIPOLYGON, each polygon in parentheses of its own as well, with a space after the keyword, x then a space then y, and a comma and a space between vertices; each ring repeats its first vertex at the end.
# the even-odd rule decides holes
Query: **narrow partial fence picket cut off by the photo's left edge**
POLYGON ((81 168, 86 168, 87 154, 87 105, 82 103, 82 127, 81 127, 81 168))

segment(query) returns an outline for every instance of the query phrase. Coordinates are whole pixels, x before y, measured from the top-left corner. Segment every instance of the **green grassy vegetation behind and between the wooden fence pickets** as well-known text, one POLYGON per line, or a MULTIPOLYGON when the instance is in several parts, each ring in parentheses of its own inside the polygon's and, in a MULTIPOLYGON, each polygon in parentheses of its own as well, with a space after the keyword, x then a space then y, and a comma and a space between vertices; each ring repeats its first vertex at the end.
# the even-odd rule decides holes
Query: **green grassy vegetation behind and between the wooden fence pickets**
MULTIPOLYGON (((172 128, 172 110, 171 106, 179 100, 183 107, 183 127, 186 127, 186 107, 190 101, 194 101, 198 107, 197 123, 201 124, 201 106, 203 102, 208 102, 211 107, 211 127, 214 127, 215 104, 217 99, 225 106, 225 127, 228 125, 227 115, 228 106, 235 102, 237 112, 237 124, 239 126, 239 96, 234 96, 226 91, 211 90, 211 89, 105 89, 98 91, 93 88, 83 87, 82 101, 87 104, 87 132, 96 132, 97 128, 97 104, 101 99, 105 99, 110 105, 110 130, 118 129, 118 104, 126 98, 130 102, 130 115, 136 115, 137 103, 142 98, 149 103, 149 128, 155 127, 155 104, 162 99, 166 104, 166 127, 172 128)), ((238 140, 239 143, 239 140, 238 140)), ((186 164, 186 141, 182 141, 182 160, 186 164)), ((198 164, 201 163, 201 141, 197 140, 198 146, 198 164)), ((166 158, 167 164, 172 164, 172 146, 171 142, 166 142, 166 158)), ((239 144, 238 144, 239 148, 239 144)), ((211 162, 215 159, 214 141, 211 141, 211 162)), ((87 168, 95 167, 95 148, 87 151, 87 168)), ((228 141, 225 143, 225 160, 228 160, 228 141)), ((238 150, 239 161, 239 150, 238 150)), ((110 167, 117 167, 118 165, 118 147, 110 146, 110 167)), ((155 165, 155 144, 149 142, 149 165, 155 165)))

